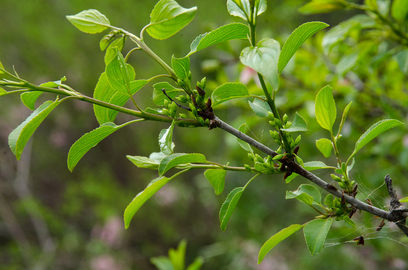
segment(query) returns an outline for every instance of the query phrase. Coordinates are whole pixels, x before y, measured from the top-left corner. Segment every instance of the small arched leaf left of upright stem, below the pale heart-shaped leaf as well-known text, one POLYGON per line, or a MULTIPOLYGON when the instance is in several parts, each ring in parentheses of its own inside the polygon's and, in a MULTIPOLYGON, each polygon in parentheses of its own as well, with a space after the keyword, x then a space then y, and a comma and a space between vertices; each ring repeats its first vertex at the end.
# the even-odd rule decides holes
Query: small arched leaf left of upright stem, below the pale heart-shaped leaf
POLYGON ((248 89, 240 82, 226 82, 217 87, 211 94, 213 106, 217 106, 227 100, 239 97, 248 97, 248 89))

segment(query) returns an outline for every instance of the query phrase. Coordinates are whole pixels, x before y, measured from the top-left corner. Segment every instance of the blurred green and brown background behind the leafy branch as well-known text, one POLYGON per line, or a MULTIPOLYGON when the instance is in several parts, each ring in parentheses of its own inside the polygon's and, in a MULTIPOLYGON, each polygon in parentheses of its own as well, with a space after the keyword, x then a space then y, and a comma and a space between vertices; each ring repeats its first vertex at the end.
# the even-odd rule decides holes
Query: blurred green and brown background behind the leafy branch
MULTIPOLYGON (((198 35, 241 21, 228 14, 226 1, 179 3, 198 8, 187 27, 162 41, 144 35, 146 44, 167 63, 173 54, 186 55, 198 35)), ((302 15, 297 9, 305 3, 269 1, 267 11, 259 16, 257 39, 272 37, 282 46, 304 22, 319 20, 335 26, 357 14, 341 10, 302 15)), ((149 23, 154 4, 151 0, 0 0, 0 59, 7 70, 11 71, 14 65, 20 77, 29 82, 41 84, 66 76, 66 83, 73 89, 92 96, 104 71, 104 52, 99 49, 103 34, 82 33, 65 15, 98 9, 114 26, 138 34, 149 23)), ((408 194, 407 74, 392 56, 374 66, 372 59, 379 55, 384 40, 360 33, 351 33, 344 44, 324 53, 321 42, 326 31, 310 38, 286 67, 276 94, 279 112, 293 119, 298 111, 308 122, 310 131, 302 134, 299 150, 304 162, 322 160, 330 165, 335 165, 335 157, 326 159, 315 147, 316 139, 329 136, 314 118, 314 99, 323 86, 330 84, 334 89, 338 115, 335 126, 344 107, 353 101, 339 140, 344 158, 375 122, 388 118, 404 122, 404 126, 387 131, 362 149, 351 172, 360 187, 357 198, 364 200, 369 196, 375 206, 387 209, 388 194, 386 187, 381 186, 387 173, 394 180, 397 193, 403 197, 408 194), (347 49, 364 40, 373 42, 375 48, 359 58, 348 73, 336 72, 333 66, 339 64, 347 49)), ((191 56, 193 82, 206 76, 206 91, 210 93, 225 82, 241 81, 248 84, 251 93, 262 94, 256 80, 251 79, 252 73, 239 63, 239 53, 245 46, 246 41, 234 40, 195 53, 191 56)), ((389 42, 387 46, 396 45, 389 42)), ((133 44, 127 40, 124 53, 131 48, 133 44)), ((163 73, 141 51, 133 53, 128 62, 135 68, 136 79, 163 73)), ((135 95, 144 107, 155 106, 151 101, 155 82, 160 81, 147 84, 135 95)), ((37 105, 51 99, 55 97, 46 93, 37 105)), ((247 122, 251 137, 275 148, 268 121, 255 116, 248 99, 226 105, 231 106, 215 108, 218 117, 235 128, 247 122)), ((299 201, 284 199, 286 190, 308 183, 301 177, 289 184, 284 183, 282 175, 258 177, 242 195, 226 232, 222 232, 220 206, 233 188, 248 181, 250 174, 228 172, 224 193, 216 196, 203 171, 190 171, 148 200, 133 217, 129 229, 124 230, 124 209, 157 177, 156 171, 136 168, 125 156, 158 152, 157 137, 169 125, 142 122, 126 126, 92 148, 70 173, 66 162, 69 147, 98 127, 92 104, 74 100, 58 106, 34 133, 17 162, 7 137, 29 114, 18 95, 0 98, 0 269, 156 269, 149 258, 166 255, 183 238, 188 241, 187 264, 200 255, 204 258, 203 270, 408 269, 407 238, 390 223, 375 232, 381 220, 365 213, 353 217, 357 228, 334 222, 326 239, 327 247, 317 257, 310 256, 299 231, 279 243, 257 265, 259 248, 269 237, 316 215, 299 201), (365 234, 364 246, 343 243, 365 234)), ((119 114, 116 122, 131 119, 119 114)), ((230 166, 251 164, 235 137, 217 128, 208 131, 176 127, 173 141, 178 153, 202 153, 208 160, 230 162, 230 166)), ((326 181, 331 180, 329 174, 316 171, 326 181)))

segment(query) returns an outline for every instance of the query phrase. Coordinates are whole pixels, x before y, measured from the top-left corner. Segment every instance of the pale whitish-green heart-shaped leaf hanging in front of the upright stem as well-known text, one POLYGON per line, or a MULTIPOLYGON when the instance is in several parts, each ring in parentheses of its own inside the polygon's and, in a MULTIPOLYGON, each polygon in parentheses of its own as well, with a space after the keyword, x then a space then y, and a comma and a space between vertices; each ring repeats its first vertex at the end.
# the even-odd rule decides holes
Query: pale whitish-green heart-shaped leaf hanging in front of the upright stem
POLYGON ((272 38, 260 40, 256 47, 250 46, 242 50, 239 60, 242 64, 259 72, 268 80, 274 90, 278 89, 277 71, 280 44, 272 38))

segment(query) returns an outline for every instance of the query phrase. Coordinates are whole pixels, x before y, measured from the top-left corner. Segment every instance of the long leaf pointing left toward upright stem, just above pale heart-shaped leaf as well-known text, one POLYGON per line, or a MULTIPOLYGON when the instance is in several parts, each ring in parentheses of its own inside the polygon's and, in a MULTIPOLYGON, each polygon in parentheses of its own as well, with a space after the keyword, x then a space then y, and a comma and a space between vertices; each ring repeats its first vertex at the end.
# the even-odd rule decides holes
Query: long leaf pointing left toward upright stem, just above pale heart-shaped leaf
POLYGON ((208 46, 227 40, 247 39, 248 35, 249 28, 247 25, 240 22, 226 24, 211 31, 210 33, 201 34, 195 38, 190 45, 191 51, 188 53, 188 55, 207 48, 208 46))

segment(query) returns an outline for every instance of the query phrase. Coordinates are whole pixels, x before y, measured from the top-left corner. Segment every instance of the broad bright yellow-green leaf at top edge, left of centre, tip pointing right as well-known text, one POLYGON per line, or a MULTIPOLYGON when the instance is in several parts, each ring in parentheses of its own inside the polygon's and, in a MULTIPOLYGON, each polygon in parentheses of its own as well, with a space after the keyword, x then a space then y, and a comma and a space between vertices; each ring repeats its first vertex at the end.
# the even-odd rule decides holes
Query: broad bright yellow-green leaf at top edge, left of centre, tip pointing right
POLYGON ((193 20, 195 11, 197 7, 185 9, 174 0, 160 0, 150 14, 146 31, 158 40, 170 38, 193 20))

